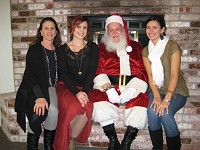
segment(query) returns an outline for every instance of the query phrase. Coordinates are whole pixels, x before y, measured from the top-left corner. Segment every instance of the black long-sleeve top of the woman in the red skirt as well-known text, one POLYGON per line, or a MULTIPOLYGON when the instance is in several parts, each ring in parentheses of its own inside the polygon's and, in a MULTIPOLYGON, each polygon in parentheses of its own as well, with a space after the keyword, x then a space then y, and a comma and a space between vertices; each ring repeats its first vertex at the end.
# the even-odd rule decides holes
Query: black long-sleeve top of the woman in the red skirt
POLYGON ((74 53, 67 44, 63 44, 59 47, 57 56, 59 80, 63 81, 73 94, 80 91, 77 86, 89 93, 99 60, 97 44, 88 41, 78 53, 74 53), (78 74, 79 71, 82 72, 81 75, 78 74))

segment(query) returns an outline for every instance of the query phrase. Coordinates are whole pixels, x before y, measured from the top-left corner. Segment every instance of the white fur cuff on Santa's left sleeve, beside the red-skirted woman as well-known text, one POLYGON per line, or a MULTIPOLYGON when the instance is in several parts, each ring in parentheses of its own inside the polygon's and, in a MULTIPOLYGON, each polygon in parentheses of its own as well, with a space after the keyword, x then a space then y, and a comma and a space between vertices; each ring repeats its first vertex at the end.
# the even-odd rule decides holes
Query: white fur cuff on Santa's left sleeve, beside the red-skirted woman
POLYGON ((103 88, 101 87, 102 85, 106 84, 106 83, 111 83, 110 79, 108 78, 107 74, 99 74, 97 75, 94 80, 94 89, 98 89, 100 91, 103 91, 103 88))

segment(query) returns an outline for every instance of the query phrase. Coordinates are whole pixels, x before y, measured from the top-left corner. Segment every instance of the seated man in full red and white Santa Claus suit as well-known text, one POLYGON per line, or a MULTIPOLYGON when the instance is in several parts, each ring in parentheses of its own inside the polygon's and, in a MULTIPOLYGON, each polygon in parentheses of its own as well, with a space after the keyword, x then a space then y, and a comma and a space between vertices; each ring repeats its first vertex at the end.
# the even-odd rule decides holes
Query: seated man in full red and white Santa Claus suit
POLYGON ((129 150, 139 129, 147 122, 147 74, 142 61, 142 47, 130 40, 124 19, 112 15, 106 19, 105 34, 99 44, 99 64, 94 79, 93 120, 99 122, 109 139, 108 150, 129 150), (125 105, 122 143, 114 122, 117 109, 125 105))

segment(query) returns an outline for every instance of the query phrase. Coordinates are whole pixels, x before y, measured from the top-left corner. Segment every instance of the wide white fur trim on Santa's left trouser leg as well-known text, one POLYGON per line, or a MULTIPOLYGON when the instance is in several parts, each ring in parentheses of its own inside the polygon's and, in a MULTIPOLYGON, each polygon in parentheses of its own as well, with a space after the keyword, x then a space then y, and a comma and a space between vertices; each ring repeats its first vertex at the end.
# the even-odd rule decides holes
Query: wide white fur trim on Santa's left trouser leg
POLYGON ((100 101, 94 103, 94 109, 92 113, 92 119, 95 122, 106 122, 112 120, 113 122, 119 119, 119 115, 117 113, 118 107, 107 102, 100 101))

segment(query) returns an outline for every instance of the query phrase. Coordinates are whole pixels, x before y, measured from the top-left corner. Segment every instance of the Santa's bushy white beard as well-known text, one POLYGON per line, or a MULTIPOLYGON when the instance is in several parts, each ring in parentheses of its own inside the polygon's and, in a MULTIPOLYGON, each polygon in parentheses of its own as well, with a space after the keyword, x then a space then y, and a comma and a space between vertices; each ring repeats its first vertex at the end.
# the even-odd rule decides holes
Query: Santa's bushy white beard
POLYGON ((125 50, 126 49, 126 36, 123 33, 123 38, 119 42, 111 41, 108 32, 105 32, 101 41, 105 44, 106 50, 109 52, 115 52, 117 50, 125 50))

